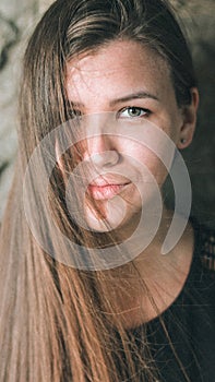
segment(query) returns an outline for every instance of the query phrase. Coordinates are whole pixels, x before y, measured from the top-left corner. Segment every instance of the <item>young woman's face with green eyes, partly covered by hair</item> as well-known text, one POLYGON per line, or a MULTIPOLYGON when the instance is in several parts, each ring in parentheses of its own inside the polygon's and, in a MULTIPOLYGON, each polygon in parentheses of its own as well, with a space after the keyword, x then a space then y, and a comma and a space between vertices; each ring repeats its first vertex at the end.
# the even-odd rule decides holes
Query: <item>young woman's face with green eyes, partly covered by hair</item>
MULTIPOLYGON (((155 124, 176 145, 181 138, 183 118, 168 65, 139 43, 112 41, 68 63, 67 92, 74 115, 88 118, 95 128, 95 136, 81 145, 92 174, 80 213, 93 230, 105 230, 104 222, 114 228, 132 227, 153 198, 152 176, 159 189, 167 176, 163 160, 143 144, 144 134, 152 126, 155 141, 155 124), (111 129, 108 134, 108 123, 120 126, 120 134, 111 129), (128 131, 136 129, 143 131, 141 140, 129 138, 128 131)), ((159 148, 165 151, 162 143, 159 148)))

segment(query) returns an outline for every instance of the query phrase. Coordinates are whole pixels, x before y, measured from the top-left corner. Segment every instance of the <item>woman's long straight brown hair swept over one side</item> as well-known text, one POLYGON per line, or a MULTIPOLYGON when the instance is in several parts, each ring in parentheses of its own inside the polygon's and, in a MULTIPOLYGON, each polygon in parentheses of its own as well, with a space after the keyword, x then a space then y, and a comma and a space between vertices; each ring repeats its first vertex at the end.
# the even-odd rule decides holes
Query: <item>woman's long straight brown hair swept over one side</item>
MULTIPOLYGON (((34 238, 23 206, 24 176, 35 147, 70 118, 67 62, 117 39, 139 41, 162 56, 170 68, 178 105, 191 102, 190 88, 196 84, 192 59, 166 1, 57 0, 46 12, 24 57, 20 151, 1 227, 0 381, 114 382, 126 380, 128 373, 140 381, 133 354, 143 370, 142 380, 157 380, 147 342, 140 356, 134 339, 115 320, 108 298, 111 283, 106 283, 114 273, 67 265, 71 248, 47 227, 41 198, 34 208, 39 210, 39 231, 51 246, 53 255, 49 255, 34 238), (59 253, 64 263, 58 261, 59 253)), ((43 160, 41 166, 46 174, 43 160)), ((40 171, 38 166, 34 172, 38 187, 40 171)), ((29 186, 36 195, 35 179, 29 186)), ((71 222, 58 168, 50 176, 48 192, 61 231, 76 243, 91 241, 94 247, 98 237, 88 237, 71 222)), ((77 195, 74 190, 74 203, 77 195)), ((79 258, 76 247, 74 252, 79 258)))

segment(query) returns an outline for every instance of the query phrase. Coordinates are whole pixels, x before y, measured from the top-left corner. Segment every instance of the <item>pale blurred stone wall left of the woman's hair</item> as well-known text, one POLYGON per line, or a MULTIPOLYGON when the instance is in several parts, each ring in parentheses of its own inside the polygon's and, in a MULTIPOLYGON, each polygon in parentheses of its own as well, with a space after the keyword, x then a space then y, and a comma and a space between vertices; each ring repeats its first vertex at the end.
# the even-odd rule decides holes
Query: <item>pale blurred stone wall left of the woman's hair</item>
POLYGON ((22 56, 51 0, 0 0, 0 222, 16 153, 16 102, 22 56))

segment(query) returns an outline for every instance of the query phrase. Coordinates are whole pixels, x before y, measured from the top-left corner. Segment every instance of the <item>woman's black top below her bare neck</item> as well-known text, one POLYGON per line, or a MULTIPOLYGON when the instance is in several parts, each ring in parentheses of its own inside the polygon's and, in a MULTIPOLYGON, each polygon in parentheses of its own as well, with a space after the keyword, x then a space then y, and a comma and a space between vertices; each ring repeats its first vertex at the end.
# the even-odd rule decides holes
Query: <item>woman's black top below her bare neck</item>
MULTIPOLYGON (((159 382, 215 382, 215 236, 203 227, 194 228, 195 248, 189 276, 180 295, 160 315, 170 342, 159 318, 146 329, 159 382)), ((141 349, 143 326, 129 333, 135 336, 141 349)), ((136 372, 140 381, 145 381, 138 365, 136 372)))

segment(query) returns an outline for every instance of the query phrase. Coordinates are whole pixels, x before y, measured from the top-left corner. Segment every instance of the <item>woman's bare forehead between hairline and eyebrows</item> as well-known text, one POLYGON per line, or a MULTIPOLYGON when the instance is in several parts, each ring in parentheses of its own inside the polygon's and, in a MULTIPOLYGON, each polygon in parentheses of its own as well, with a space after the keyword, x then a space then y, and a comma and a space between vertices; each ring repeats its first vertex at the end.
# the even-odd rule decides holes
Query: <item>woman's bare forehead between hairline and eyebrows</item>
POLYGON ((141 85, 159 97, 162 91, 171 86, 171 80, 166 61, 140 43, 111 41, 67 65, 69 98, 83 98, 86 92, 116 97, 141 85))

